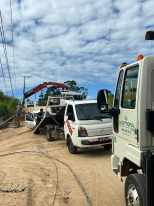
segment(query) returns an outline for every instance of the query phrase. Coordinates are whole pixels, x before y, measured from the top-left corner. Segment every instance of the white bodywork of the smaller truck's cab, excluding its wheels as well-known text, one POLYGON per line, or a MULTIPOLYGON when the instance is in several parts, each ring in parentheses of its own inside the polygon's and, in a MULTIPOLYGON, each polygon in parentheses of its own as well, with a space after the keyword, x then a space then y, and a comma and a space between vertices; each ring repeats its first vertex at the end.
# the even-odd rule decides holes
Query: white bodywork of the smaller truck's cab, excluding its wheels
MULTIPOLYGON (((105 117, 102 119, 92 119, 93 116, 88 115, 88 119, 86 116, 79 116, 80 113, 90 107, 93 109, 97 105, 96 100, 87 100, 87 101, 67 101, 66 100, 66 109, 64 116, 64 131, 65 131, 65 139, 71 137, 73 145, 78 148, 88 148, 96 145, 105 145, 111 144, 112 140, 112 122, 110 117, 105 117), (78 109, 77 109, 78 108, 78 109), (81 109, 81 110, 80 110, 81 109), (75 121, 68 120, 68 110, 72 110, 74 113, 75 121), (83 127, 85 129, 85 136, 79 135, 79 127, 83 127)), ((86 112, 86 111, 85 111, 86 112)), ((92 113, 92 111, 91 111, 92 113)), ((88 112, 86 112, 88 114, 88 112)), ((96 115, 96 114, 95 114, 96 115)), ((94 116, 93 116, 94 117, 94 116)))

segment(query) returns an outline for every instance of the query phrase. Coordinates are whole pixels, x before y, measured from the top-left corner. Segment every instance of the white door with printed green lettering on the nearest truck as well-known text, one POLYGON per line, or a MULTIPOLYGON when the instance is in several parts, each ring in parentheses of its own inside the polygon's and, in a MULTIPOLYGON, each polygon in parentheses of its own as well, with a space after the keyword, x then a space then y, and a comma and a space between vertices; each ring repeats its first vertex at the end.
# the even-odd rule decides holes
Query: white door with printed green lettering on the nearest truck
POLYGON ((133 144, 137 144, 138 131, 136 106, 138 71, 139 65, 121 70, 114 101, 114 107, 120 108, 120 114, 113 117, 114 133, 118 133, 118 136, 133 144))

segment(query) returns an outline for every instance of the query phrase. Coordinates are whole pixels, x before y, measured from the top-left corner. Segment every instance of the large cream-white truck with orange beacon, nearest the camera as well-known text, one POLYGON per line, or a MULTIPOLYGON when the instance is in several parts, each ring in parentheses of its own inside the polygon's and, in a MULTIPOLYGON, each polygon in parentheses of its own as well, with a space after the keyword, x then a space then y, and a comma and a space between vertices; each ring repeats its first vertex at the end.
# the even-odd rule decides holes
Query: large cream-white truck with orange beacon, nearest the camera
MULTIPOLYGON (((154 32, 146 33, 154 40, 154 32)), ((127 206, 154 205, 154 56, 138 56, 118 69, 113 108, 107 90, 97 96, 99 109, 112 115, 111 168, 125 181, 127 206)))

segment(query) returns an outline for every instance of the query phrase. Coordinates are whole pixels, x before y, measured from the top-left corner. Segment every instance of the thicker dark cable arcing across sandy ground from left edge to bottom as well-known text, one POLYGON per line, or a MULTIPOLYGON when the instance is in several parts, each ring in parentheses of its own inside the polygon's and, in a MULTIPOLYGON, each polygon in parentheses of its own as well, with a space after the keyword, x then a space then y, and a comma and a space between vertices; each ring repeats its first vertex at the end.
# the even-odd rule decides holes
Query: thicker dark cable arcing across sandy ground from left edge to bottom
MULTIPOLYGON (((53 160, 56 160, 56 161, 62 163, 63 165, 65 165, 65 166, 71 171, 71 173, 74 175, 77 183, 79 184, 80 188, 82 189, 82 191, 83 191, 83 193, 84 193, 84 195, 85 195, 85 197, 86 197, 86 199, 87 199, 88 205, 89 205, 89 206, 92 206, 92 205, 91 205, 91 202, 90 202, 90 199, 89 199, 89 197, 88 197, 85 189, 83 188, 81 182, 79 181, 79 179, 77 178, 76 174, 73 172, 73 170, 71 169, 71 167, 70 167, 69 165, 67 165, 65 162, 63 162, 63 161, 61 161, 61 160, 59 160, 59 159, 56 159, 56 158, 54 158, 54 157, 51 157, 51 156, 49 156, 48 154, 45 154, 45 153, 39 152, 39 151, 35 151, 35 150, 12 152, 12 153, 7 153, 7 154, 0 155, 0 157, 4 157, 4 156, 8 156, 8 155, 13 155, 13 154, 20 154, 20 153, 38 153, 38 154, 43 154, 43 155, 45 155, 46 157, 48 157, 48 158, 50 158, 50 159, 53 159, 53 160)), ((57 188, 58 188, 58 187, 57 187, 57 188)), ((54 198, 54 199, 55 199, 55 198, 54 198)), ((53 204, 52 204, 52 206, 53 206, 53 204)))

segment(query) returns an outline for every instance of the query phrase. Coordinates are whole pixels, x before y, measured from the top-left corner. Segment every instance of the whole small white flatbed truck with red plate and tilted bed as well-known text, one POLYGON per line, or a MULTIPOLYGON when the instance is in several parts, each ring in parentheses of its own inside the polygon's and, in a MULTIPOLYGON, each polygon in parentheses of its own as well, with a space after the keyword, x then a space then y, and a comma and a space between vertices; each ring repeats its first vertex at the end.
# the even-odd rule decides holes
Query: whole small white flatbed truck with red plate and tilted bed
POLYGON ((45 118, 34 130, 34 134, 45 131, 48 141, 56 138, 66 139, 71 154, 77 153, 78 148, 104 146, 106 150, 112 147, 112 120, 108 114, 101 114, 96 100, 60 101, 62 104, 52 105, 53 98, 48 97, 45 118), (57 113, 51 108, 57 107, 57 113))

